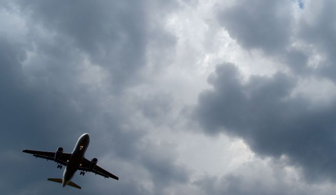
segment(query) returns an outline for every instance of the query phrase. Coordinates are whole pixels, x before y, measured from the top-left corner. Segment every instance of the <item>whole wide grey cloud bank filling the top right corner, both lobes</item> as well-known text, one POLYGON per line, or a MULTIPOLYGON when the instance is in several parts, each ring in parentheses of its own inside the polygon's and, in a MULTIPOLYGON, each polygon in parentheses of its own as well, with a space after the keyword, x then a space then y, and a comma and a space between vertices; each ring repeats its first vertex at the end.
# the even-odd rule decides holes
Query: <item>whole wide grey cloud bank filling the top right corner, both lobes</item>
POLYGON ((336 3, 334 1, 237 1, 218 12, 218 21, 230 37, 246 50, 260 49, 267 57, 286 64, 302 76, 328 77, 335 81, 336 3), (293 3, 302 9, 297 19, 293 3), (303 46, 298 46, 303 45, 303 46), (317 67, 308 65, 322 57, 317 67))

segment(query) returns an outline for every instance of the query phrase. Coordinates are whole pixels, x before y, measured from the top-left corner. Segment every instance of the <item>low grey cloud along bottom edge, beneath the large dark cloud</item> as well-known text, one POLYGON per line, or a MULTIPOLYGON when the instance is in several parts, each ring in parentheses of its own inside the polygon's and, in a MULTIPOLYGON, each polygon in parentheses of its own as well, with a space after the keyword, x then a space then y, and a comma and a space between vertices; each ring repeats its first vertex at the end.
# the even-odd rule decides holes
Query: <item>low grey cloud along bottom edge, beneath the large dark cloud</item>
POLYGON ((272 161, 248 163, 222 177, 204 176, 194 182, 200 194, 332 194, 332 184, 302 183, 290 167, 272 161))

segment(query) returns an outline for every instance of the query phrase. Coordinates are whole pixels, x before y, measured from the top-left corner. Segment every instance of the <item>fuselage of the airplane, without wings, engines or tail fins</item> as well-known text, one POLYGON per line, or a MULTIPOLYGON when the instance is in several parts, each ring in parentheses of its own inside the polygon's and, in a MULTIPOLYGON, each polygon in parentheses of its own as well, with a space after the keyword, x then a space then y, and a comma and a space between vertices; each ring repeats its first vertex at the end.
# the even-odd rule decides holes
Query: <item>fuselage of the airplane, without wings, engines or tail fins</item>
POLYGON ((85 133, 78 138, 75 148, 71 153, 68 165, 63 173, 63 180, 62 180, 63 187, 66 186, 75 175, 82 159, 84 158, 89 143, 90 143, 90 135, 88 133, 85 133))

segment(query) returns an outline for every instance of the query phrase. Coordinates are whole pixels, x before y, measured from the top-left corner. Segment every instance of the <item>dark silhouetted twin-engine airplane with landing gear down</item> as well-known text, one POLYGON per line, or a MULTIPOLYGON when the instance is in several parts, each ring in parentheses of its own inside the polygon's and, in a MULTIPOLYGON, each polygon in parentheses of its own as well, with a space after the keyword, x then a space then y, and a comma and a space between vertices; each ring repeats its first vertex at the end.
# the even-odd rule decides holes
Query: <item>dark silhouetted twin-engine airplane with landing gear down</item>
POLYGON ((85 152, 89 146, 90 135, 85 133, 81 135, 75 145, 72 153, 64 153, 63 148, 57 148, 56 152, 44 152, 34 150, 23 150, 22 152, 33 154, 34 157, 44 158, 47 160, 53 160, 57 163, 57 168, 61 169, 62 166, 66 166, 63 177, 60 178, 48 178, 47 180, 61 183, 63 187, 66 185, 81 189, 81 187, 71 181, 77 170, 81 170, 79 175, 85 175, 86 172, 92 172, 96 175, 100 175, 104 178, 113 178, 119 180, 119 178, 107 170, 104 170, 97 165, 98 159, 93 158, 91 161, 84 157, 85 152))

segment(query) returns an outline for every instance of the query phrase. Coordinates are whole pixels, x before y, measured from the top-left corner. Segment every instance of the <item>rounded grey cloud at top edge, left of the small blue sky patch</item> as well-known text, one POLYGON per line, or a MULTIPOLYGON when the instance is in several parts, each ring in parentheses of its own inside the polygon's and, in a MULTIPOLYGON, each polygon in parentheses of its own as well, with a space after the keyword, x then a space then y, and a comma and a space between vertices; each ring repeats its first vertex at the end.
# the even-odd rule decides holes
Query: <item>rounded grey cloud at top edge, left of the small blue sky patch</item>
MULTIPOLYGON (((293 1, 236 1, 219 10, 217 19, 229 36, 246 50, 258 49, 291 68, 295 74, 311 74, 307 51, 292 48, 297 38, 293 1)), ((299 1, 299 6, 302 2, 299 1)))

